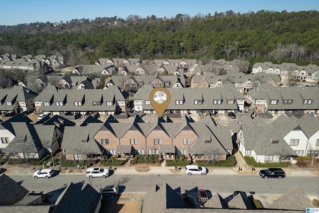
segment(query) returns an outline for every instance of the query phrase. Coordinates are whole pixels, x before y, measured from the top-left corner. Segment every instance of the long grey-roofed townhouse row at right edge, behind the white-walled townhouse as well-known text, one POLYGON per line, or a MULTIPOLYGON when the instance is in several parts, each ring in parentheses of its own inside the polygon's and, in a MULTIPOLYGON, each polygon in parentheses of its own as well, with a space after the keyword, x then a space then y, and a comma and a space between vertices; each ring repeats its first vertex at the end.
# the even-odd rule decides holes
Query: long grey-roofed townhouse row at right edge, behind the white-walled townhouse
POLYGON ((247 93, 247 103, 255 112, 302 111, 319 114, 319 87, 274 87, 262 84, 247 93))

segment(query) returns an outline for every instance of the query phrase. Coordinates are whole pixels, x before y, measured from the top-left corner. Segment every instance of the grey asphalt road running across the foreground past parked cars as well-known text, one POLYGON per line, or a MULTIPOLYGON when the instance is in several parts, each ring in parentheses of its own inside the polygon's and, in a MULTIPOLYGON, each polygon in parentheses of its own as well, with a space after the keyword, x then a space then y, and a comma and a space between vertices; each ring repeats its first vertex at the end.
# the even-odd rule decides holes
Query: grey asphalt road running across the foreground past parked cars
POLYGON ((230 175, 111 175, 110 177, 88 179, 84 175, 56 175, 50 179, 34 179, 32 176, 9 176, 21 186, 35 193, 61 192, 71 182, 74 184, 91 184, 97 191, 106 185, 118 184, 121 193, 148 192, 155 184, 161 186, 167 183, 173 190, 181 193, 185 190, 197 192, 205 189, 214 193, 229 193, 243 191, 247 194, 282 195, 294 186, 299 186, 306 195, 317 196, 319 190, 318 177, 289 177, 282 180, 267 179, 259 176, 230 176, 230 175))

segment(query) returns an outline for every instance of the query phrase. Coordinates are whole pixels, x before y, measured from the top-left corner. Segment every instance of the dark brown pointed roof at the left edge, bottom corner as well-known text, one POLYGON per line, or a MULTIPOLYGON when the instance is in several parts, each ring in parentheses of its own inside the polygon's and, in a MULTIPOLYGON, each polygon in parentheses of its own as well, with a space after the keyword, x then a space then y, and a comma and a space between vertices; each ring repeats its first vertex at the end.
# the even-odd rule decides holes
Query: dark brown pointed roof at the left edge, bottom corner
POLYGON ((13 205, 29 193, 24 187, 4 174, 0 176, 0 189, 0 206, 13 205))

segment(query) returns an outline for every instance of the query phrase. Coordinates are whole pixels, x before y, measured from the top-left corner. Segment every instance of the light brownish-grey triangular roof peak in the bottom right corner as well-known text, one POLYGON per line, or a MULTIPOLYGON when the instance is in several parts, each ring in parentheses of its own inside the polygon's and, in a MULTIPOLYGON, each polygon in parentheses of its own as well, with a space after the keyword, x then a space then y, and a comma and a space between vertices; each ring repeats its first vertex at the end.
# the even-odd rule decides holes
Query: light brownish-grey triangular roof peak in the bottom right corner
POLYGON ((305 211, 308 208, 316 208, 316 206, 298 186, 288 190, 269 206, 269 209, 278 210, 305 211))

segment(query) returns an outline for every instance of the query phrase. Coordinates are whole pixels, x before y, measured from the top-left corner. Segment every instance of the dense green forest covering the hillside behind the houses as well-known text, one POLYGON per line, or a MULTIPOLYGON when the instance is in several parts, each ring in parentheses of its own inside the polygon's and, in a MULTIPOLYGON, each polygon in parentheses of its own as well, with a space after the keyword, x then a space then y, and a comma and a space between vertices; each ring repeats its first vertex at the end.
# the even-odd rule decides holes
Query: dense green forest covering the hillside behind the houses
MULTIPOLYGON (((319 65, 319 11, 232 10, 173 18, 130 15, 0 26, 0 53, 86 58, 245 59, 319 65)), ((80 61, 79 61, 80 62, 80 61)))

